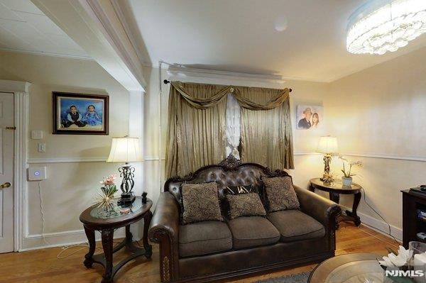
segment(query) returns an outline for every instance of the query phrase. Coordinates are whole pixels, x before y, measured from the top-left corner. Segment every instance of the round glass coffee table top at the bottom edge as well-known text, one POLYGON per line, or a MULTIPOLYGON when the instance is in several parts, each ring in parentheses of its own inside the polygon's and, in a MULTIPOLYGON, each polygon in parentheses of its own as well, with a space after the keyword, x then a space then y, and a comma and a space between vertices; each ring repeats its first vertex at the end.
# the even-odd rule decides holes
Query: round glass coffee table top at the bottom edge
POLYGON ((385 272, 377 260, 348 262, 334 269, 325 280, 327 283, 388 283, 385 272))

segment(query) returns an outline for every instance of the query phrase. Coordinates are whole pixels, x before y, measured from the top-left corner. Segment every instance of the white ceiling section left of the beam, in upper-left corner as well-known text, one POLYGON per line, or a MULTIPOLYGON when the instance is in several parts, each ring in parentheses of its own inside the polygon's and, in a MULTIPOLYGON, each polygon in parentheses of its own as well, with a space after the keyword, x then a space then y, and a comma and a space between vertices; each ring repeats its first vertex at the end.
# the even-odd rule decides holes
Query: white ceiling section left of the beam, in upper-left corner
POLYGON ((30 0, 0 0, 0 48, 89 57, 30 0))

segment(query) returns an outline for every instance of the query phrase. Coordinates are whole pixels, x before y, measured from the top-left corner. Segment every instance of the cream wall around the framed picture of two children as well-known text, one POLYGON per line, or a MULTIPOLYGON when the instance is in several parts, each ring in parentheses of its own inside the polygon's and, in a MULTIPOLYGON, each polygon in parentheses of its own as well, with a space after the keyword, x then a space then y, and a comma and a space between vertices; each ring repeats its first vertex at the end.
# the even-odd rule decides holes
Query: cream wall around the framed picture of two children
MULTIPOLYGON (((90 60, 0 52, 0 62, 0 79, 32 83, 29 130, 43 131, 44 138, 29 140, 28 162, 29 166, 48 169, 48 179, 40 182, 46 238, 53 245, 85 240, 80 213, 92 205, 99 180, 117 172, 119 165, 80 160, 105 160, 111 137, 129 133, 129 91, 90 60), (109 94, 109 135, 53 135, 52 91, 109 94), (37 143, 45 143, 46 152, 38 152, 37 143)), ((28 219, 23 249, 45 245, 40 238, 37 182, 28 182, 26 200, 28 219)))

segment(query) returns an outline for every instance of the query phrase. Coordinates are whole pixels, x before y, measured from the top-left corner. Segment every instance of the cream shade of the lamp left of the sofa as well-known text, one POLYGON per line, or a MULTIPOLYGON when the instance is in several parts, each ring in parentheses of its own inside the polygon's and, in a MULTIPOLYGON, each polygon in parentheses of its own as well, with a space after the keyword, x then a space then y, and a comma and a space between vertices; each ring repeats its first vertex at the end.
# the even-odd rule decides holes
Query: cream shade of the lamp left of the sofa
POLYGON ((138 161, 143 161, 138 138, 112 138, 107 162, 138 161))

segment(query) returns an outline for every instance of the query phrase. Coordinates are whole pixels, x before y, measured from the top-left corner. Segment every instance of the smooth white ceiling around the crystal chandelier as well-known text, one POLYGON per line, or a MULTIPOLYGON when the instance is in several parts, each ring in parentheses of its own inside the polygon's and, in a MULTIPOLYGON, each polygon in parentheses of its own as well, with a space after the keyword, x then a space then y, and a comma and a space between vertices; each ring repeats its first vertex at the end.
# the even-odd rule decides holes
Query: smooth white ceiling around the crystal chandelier
POLYGON ((129 0, 151 62, 331 82, 426 45, 386 55, 346 51, 349 16, 364 0, 129 0), (275 18, 288 28, 278 32, 275 18))

